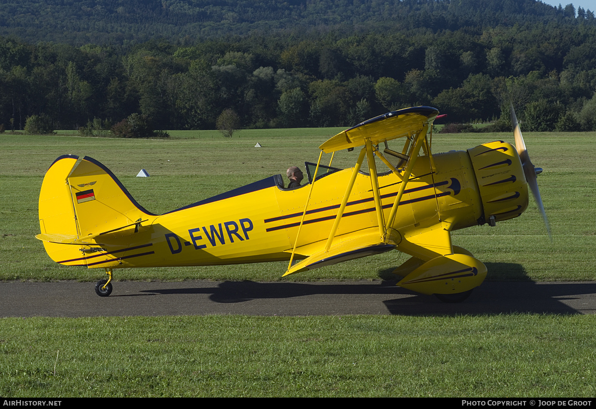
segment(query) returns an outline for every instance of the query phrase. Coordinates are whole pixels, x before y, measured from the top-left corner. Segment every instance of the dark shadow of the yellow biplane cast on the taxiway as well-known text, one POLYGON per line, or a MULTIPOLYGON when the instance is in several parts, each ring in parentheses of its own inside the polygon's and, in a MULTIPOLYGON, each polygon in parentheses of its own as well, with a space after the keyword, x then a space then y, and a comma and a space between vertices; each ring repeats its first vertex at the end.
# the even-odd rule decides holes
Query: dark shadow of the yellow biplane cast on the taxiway
MULTIPOLYGON (((393 315, 492 315, 492 314, 591 314, 594 306, 574 308, 573 300, 582 295, 596 294, 595 283, 535 283, 532 281, 486 281, 461 303, 443 303, 434 296, 420 295, 395 286, 396 281, 381 283, 257 283, 254 281, 224 281, 208 288, 148 290, 163 295, 206 294, 215 303, 241 303, 251 300, 279 300, 325 296, 339 302, 352 295, 356 304, 384 305, 393 315), (364 297, 360 297, 364 296, 364 297), (389 297, 387 297, 389 296, 389 297), (395 298, 393 298, 395 296, 395 298), (375 303, 374 300, 378 300, 375 303)), ((319 299, 320 300, 320 299, 319 299)), ((309 315, 313 311, 311 300, 309 315)), ((347 300, 349 302, 349 299, 347 300)), ((353 306, 350 305, 350 306, 353 306)), ((369 314, 363 307, 362 314, 369 314)), ((353 309, 350 309, 353 311, 353 309)), ((321 315, 325 315, 324 308, 321 315)), ((353 314, 350 312, 349 314, 353 314)), ((378 314, 378 313, 377 313, 378 314)))

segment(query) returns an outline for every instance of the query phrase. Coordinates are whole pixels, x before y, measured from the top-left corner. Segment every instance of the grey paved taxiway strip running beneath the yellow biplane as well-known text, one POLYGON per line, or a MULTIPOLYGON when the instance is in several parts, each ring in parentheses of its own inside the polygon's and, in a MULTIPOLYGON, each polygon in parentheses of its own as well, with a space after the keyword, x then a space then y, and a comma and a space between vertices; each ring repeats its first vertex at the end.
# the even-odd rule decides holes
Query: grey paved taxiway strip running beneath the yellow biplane
POLYGON ((488 281, 458 304, 417 295, 389 281, 114 282, 109 297, 94 283, 0 283, 0 317, 134 315, 455 315, 594 314, 596 283, 488 281))

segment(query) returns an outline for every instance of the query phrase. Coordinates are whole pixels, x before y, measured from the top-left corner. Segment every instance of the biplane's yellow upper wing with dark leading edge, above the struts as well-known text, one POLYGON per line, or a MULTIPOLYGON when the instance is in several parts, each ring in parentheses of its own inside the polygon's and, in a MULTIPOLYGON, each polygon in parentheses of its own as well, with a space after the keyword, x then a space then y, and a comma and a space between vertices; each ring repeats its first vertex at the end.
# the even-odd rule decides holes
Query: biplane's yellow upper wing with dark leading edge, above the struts
POLYGON ((335 135, 319 146, 325 153, 363 146, 369 139, 373 145, 417 134, 439 114, 432 107, 412 107, 392 111, 366 120, 335 135))

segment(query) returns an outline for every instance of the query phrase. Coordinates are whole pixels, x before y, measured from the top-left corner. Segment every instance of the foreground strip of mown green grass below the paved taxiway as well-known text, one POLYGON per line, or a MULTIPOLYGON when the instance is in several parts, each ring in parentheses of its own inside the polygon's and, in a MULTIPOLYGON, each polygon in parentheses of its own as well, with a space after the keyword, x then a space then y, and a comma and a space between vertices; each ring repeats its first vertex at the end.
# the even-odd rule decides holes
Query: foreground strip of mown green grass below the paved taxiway
POLYGON ((0 328, 7 397, 596 393, 592 316, 5 318, 0 328))

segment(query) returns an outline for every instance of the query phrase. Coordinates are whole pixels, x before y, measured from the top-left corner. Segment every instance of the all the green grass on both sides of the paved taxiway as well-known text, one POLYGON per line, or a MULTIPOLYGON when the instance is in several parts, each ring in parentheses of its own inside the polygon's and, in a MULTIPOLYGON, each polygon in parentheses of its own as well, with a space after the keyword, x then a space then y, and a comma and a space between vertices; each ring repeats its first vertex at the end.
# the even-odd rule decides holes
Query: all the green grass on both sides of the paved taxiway
MULTIPOLYGON (((215 131, 170 140, 0 135, 0 280, 103 276, 55 264, 33 237, 43 175, 61 154, 100 160, 162 213, 316 162, 318 145, 337 131, 251 130, 229 140, 215 131), (140 169, 151 177, 136 178, 140 169)), ((594 134, 524 138, 545 169, 538 182, 552 242, 530 203, 520 218, 455 232, 454 243, 485 262, 489 280, 596 280, 594 134)), ((436 134, 433 151, 497 139, 513 142, 436 134)), ((343 153, 334 166, 355 158, 343 153)), ((385 253, 290 277, 375 279, 405 259, 385 253)), ((286 280, 286 267, 124 269, 116 279, 286 280)), ((594 396, 593 328, 592 316, 542 315, 4 318, 0 396, 594 396)))

